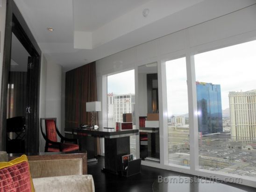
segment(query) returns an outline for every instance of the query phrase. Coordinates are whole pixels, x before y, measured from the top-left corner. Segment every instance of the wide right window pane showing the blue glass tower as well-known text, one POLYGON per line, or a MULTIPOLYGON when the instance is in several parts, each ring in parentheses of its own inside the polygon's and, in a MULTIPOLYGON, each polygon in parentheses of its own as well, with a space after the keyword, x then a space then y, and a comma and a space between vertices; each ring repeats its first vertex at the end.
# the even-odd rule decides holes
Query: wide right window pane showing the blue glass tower
POLYGON ((199 168, 256 177, 256 41, 195 55, 199 168))

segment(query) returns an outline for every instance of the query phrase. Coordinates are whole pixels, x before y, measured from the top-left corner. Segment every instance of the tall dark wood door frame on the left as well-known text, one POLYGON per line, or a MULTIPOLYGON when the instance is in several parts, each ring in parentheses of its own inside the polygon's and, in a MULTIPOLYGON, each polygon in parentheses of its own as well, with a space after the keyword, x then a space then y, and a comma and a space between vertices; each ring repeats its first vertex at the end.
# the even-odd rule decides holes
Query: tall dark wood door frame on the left
POLYGON ((37 85, 35 92, 36 103, 34 109, 35 125, 34 128, 27 131, 26 129, 26 152, 38 152, 39 146, 39 94, 40 94, 40 69, 41 69, 41 50, 36 43, 36 39, 32 35, 24 18, 21 15, 14 0, 7 0, 6 5, 6 24, 3 50, 3 68, 2 68, 2 83, 1 83, 1 99, 0 99, 0 150, 6 150, 6 119, 7 119, 7 86, 8 76, 11 64, 11 43, 12 33, 19 39, 24 48, 31 56, 37 57, 36 79, 34 83, 37 85), (29 140, 28 140, 29 138, 29 140))

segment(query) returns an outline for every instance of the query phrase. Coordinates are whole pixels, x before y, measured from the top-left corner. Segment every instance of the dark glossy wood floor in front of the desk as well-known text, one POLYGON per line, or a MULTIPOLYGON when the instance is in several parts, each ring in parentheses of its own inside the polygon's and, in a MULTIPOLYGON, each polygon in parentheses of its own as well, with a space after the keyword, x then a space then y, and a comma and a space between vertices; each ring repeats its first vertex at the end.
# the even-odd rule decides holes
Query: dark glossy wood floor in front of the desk
MULTIPOLYGON (((95 192, 152 192, 152 184, 157 179, 158 175, 163 177, 189 176, 174 171, 162 170, 142 165, 141 174, 125 178, 110 173, 103 173, 101 172, 103 167, 103 156, 98 158, 98 163, 88 164, 88 174, 91 174, 94 179, 95 192)), ((236 184, 230 185, 243 189, 245 192, 256 192, 256 188, 236 184)))

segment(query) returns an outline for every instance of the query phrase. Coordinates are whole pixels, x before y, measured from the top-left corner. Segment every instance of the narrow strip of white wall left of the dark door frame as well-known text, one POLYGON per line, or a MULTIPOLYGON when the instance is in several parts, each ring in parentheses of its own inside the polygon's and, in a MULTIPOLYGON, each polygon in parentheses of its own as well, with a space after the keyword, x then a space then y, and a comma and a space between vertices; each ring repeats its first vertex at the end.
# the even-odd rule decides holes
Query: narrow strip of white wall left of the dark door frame
MULTIPOLYGON (((6 17, 6 0, 2 0, 0 5, 0 85, 2 85, 5 17, 6 17)), ((1 95, 1 90, 0 90, 0 95, 1 95)))

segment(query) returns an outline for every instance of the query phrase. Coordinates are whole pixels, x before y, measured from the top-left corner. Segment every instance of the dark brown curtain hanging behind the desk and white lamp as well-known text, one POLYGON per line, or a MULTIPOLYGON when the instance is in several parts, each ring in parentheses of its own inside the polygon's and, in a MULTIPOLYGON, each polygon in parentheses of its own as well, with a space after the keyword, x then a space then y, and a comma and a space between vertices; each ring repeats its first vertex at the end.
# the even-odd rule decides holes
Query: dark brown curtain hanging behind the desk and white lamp
MULTIPOLYGON (((77 128, 89 125, 91 113, 86 112, 86 102, 97 101, 96 63, 85 64, 66 72, 65 82, 65 127, 77 128)), ((98 115, 96 115, 96 125, 98 115)), ((100 140, 95 141, 97 155, 100 154, 100 140)))

